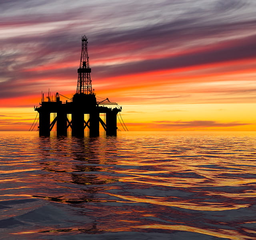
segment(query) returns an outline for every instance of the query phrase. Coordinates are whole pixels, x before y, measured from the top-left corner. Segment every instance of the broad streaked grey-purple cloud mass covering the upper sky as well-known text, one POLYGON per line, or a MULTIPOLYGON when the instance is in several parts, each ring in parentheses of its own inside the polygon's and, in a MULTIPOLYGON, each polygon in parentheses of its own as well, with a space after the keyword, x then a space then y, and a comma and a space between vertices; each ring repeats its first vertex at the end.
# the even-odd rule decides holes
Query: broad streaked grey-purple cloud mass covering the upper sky
POLYGON ((0 96, 25 96, 31 94, 31 90, 42 90, 44 82, 40 79, 51 76, 68 76, 74 79, 75 88, 76 68, 25 70, 49 64, 61 65, 67 61, 79 64, 80 36, 87 32, 90 59, 125 58, 145 53, 152 56, 152 59, 111 66, 92 64, 92 76, 96 80, 256 56, 253 1, 147 2, 150 4, 111 0, 108 4, 98 0, 93 4, 77 1, 71 5, 68 1, 58 0, 1 2, 4 15, 0 20, 10 29, 30 28, 40 23, 67 23, 42 30, 40 34, 0 38, 0 96), (191 51, 200 46, 206 49, 191 51), (178 55, 160 56, 163 53, 171 55, 176 49, 180 49, 178 55), (188 49, 190 52, 186 53, 188 49))

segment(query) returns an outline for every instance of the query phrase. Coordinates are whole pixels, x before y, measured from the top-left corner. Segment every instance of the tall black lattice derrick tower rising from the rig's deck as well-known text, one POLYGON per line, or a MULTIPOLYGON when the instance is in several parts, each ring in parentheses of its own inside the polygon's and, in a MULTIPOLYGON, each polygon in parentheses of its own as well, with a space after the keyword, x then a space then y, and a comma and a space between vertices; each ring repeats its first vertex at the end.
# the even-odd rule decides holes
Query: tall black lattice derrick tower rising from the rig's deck
POLYGON ((80 59, 80 67, 78 68, 78 80, 76 93, 78 94, 93 94, 92 93, 92 80, 90 76, 91 68, 89 65, 88 56, 88 38, 84 35, 82 36, 82 52, 80 59))

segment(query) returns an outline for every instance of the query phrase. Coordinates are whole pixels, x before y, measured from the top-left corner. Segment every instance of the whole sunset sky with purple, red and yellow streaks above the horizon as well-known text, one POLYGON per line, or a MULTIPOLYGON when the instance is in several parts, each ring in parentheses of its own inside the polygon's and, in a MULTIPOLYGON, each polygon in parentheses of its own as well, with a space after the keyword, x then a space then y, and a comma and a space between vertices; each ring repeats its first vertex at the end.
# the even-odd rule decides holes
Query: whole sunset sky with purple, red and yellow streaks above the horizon
MULTIPOLYGON (((29 130, 41 91, 92 88, 129 130, 256 130, 255 0, 0 3, 0 131, 29 130)), ((65 101, 65 98, 61 98, 65 101)))

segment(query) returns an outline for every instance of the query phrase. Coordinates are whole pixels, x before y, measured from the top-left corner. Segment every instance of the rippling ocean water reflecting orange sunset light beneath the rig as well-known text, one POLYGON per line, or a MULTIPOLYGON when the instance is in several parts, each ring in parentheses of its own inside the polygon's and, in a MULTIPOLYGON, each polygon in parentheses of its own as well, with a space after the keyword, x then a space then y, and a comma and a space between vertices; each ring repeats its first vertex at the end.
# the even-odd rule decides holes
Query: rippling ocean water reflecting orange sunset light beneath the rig
POLYGON ((0 239, 256 239, 256 132, 0 132, 0 239))

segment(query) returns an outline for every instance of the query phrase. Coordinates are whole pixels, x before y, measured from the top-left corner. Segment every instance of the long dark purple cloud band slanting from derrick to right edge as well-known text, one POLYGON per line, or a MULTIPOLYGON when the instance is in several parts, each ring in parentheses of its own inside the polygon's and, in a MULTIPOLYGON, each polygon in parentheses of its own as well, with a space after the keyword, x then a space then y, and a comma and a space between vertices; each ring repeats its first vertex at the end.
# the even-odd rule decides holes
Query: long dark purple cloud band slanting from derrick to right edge
POLYGON ((196 66, 202 64, 219 63, 231 60, 241 60, 256 57, 256 35, 242 39, 240 42, 230 42, 228 46, 219 49, 209 48, 203 52, 192 52, 188 54, 180 54, 167 58, 142 60, 120 64, 114 66, 95 67, 96 76, 125 75, 129 73, 139 73, 154 70, 165 70, 196 66))

